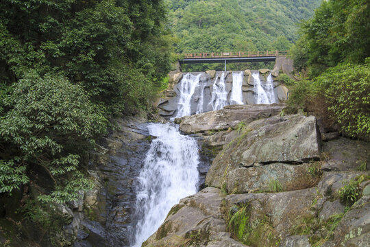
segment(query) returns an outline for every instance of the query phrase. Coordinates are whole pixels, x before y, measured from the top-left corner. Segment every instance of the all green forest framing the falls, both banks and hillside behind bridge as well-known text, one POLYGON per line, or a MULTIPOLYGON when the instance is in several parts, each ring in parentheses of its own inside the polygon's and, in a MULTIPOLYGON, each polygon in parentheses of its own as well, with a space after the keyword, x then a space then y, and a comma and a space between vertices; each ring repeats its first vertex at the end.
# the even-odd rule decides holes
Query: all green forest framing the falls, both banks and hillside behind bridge
POLYGON ((88 152, 114 117, 151 110, 176 53, 290 49, 286 113, 370 141, 369 4, 1 0, 0 211, 17 195, 21 217, 52 226, 49 205, 91 188, 88 152))

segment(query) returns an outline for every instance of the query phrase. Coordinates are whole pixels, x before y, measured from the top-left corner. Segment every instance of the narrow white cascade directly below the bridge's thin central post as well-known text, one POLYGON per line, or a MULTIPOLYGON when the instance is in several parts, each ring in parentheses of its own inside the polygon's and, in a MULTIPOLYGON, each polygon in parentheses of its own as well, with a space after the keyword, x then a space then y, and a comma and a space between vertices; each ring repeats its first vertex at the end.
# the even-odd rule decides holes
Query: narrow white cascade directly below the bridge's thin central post
POLYGON ((227 104, 227 91, 225 86, 225 72, 222 72, 220 80, 218 79, 218 75, 216 75, 216 80, 214 80, 214 84, 212 87, 212 99, 210 101, 210 105, 212 106, 213 110, 220 110, 223 106, 227 104))

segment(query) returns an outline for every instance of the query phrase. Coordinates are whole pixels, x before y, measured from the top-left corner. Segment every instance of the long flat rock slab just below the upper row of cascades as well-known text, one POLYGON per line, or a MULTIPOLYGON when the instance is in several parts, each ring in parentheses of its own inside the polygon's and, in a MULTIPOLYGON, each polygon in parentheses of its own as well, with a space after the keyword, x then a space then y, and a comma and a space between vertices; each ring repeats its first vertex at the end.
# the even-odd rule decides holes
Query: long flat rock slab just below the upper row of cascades
POLYGON ((234 128, 240 121, 248 124, 256 119, 278 115, 283 108, 283 104, 225 106, 222 110, 183 117, 180 130, 186 134, 227 130, 234 128))

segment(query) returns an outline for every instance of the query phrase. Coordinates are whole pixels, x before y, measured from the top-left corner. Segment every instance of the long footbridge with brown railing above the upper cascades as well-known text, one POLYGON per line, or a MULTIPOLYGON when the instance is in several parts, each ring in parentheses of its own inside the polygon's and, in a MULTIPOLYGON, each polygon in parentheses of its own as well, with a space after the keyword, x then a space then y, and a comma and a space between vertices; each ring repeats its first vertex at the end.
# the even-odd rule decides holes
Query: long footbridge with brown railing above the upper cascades
POLYGON ((275 61, 277 56, 286 56, 288 51, 247 51, 247 52, 212 52, 212 53, 194 53, 179 54, 183 58, 179 60, 180 64, 197 63, 226 63, 227 62, 271 62, 275 61))

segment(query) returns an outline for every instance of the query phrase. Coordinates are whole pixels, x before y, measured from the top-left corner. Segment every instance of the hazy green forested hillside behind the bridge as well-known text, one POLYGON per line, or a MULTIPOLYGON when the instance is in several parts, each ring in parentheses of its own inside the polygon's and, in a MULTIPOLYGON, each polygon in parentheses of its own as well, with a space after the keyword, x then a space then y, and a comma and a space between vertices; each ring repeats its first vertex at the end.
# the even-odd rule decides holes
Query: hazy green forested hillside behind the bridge
POLYGON ((177 53, 287 50, 321 0, 171 0, 177 53))

